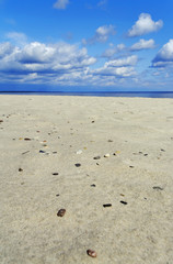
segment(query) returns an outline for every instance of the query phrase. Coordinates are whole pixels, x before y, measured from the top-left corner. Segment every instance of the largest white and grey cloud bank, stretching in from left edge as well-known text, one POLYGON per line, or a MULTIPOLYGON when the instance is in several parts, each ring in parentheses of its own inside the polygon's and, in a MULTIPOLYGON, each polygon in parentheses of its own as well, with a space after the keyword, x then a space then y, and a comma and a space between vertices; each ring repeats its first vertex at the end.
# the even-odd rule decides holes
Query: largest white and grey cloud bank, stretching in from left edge
POLYGON ((84 70, 96 62, 94 57, 88 55, 86 48, 79 48, 68 43, 46 45, 33 42, 24 47, 1 44, 0 51, 1 73, 62 75, 84 70))

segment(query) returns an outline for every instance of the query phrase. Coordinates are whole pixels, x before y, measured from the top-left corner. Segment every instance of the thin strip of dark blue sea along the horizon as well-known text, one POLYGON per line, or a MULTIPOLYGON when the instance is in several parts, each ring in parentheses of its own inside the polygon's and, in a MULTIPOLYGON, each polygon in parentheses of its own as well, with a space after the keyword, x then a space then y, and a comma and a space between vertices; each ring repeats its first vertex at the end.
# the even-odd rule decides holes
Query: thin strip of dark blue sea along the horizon
POLYGON ((0 91, 0 95, 35 95, 35 96, 90 96, 90 97, 147 97, 147 98, 173 98, 173 91, 0 91))

